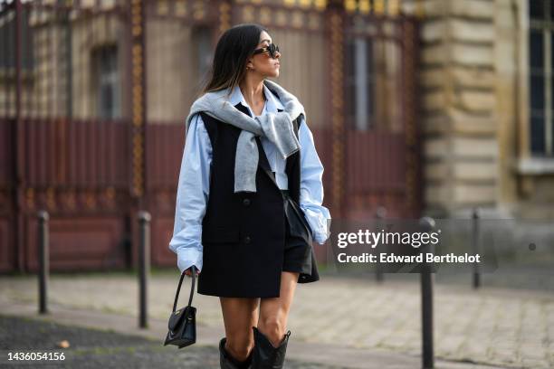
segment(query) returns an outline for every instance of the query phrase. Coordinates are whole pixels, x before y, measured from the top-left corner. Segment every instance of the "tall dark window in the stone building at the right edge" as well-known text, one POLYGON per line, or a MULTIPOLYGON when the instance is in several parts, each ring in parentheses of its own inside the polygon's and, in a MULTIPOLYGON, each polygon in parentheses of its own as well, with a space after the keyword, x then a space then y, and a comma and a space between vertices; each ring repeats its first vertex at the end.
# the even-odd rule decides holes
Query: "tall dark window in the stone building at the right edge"
POLYGON ((554 0, 529 0, 531 156, 553 156, 554 0))

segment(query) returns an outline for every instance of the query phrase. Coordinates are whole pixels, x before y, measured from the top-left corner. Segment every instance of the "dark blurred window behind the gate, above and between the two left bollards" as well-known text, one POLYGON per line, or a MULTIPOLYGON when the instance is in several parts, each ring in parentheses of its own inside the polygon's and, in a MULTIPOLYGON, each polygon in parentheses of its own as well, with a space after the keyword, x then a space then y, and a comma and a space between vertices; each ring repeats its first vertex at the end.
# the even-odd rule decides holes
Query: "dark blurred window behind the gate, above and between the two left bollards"
POLYGON ((120 117, 118 48, 100 46, 92 52, 92 76, 98 118, 120 117))

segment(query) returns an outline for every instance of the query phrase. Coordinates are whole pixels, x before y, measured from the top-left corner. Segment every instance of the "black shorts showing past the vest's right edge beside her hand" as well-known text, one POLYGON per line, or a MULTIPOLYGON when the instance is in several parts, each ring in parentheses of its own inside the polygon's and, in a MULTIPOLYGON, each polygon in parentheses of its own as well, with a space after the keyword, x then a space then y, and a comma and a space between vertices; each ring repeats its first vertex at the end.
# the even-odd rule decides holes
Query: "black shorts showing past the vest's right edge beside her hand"
POLYGON ((285 244, 283 271, 311 274, 311 234, 298 203, 291 199, 288 190, 281 190, 285 210, 285 244))

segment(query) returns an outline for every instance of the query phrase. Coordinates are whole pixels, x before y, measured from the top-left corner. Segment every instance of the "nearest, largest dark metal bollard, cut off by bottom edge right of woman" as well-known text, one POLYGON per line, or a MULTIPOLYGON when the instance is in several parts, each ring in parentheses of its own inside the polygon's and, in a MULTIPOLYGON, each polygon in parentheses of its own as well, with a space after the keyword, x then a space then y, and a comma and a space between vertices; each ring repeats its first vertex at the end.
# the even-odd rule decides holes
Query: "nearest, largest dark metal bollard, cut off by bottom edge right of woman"
MULTIPOLYGON (((433 232, 435 220, 425 216, 419 220, 419 225, 424 232, 433 232)), ((427 252, 435 253, 432 243, 429 243, 427 252)), ((433 282, 435 276, 431 271, 431 264, 424 261, 421 270, 422 367, 424 369, 435 367, 433 348, 433 282)))

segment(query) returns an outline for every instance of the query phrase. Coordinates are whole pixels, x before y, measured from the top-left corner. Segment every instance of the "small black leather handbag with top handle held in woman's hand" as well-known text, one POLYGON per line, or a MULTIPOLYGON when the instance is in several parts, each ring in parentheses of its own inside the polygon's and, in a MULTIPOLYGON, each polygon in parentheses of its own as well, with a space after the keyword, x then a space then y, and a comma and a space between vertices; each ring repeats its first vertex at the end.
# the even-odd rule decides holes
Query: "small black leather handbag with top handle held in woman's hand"
POLYGON ((177 345, 179 348, 183 348, 187 345, 196 343, 196 307, 191 306, 196 283, 196 267, 194 265, 191 267, 191 274, 193 280, 190 287, 188 305, 176 310, 179 291, 181 290, 181 284, 183 284, 183 279, 186 275, 185 271, 181 273, 177 294, 175 295, 175 302, 173 303, 173 311, 167 325, 169 327, 169 332, 167 332, 164 345, 177 345))

